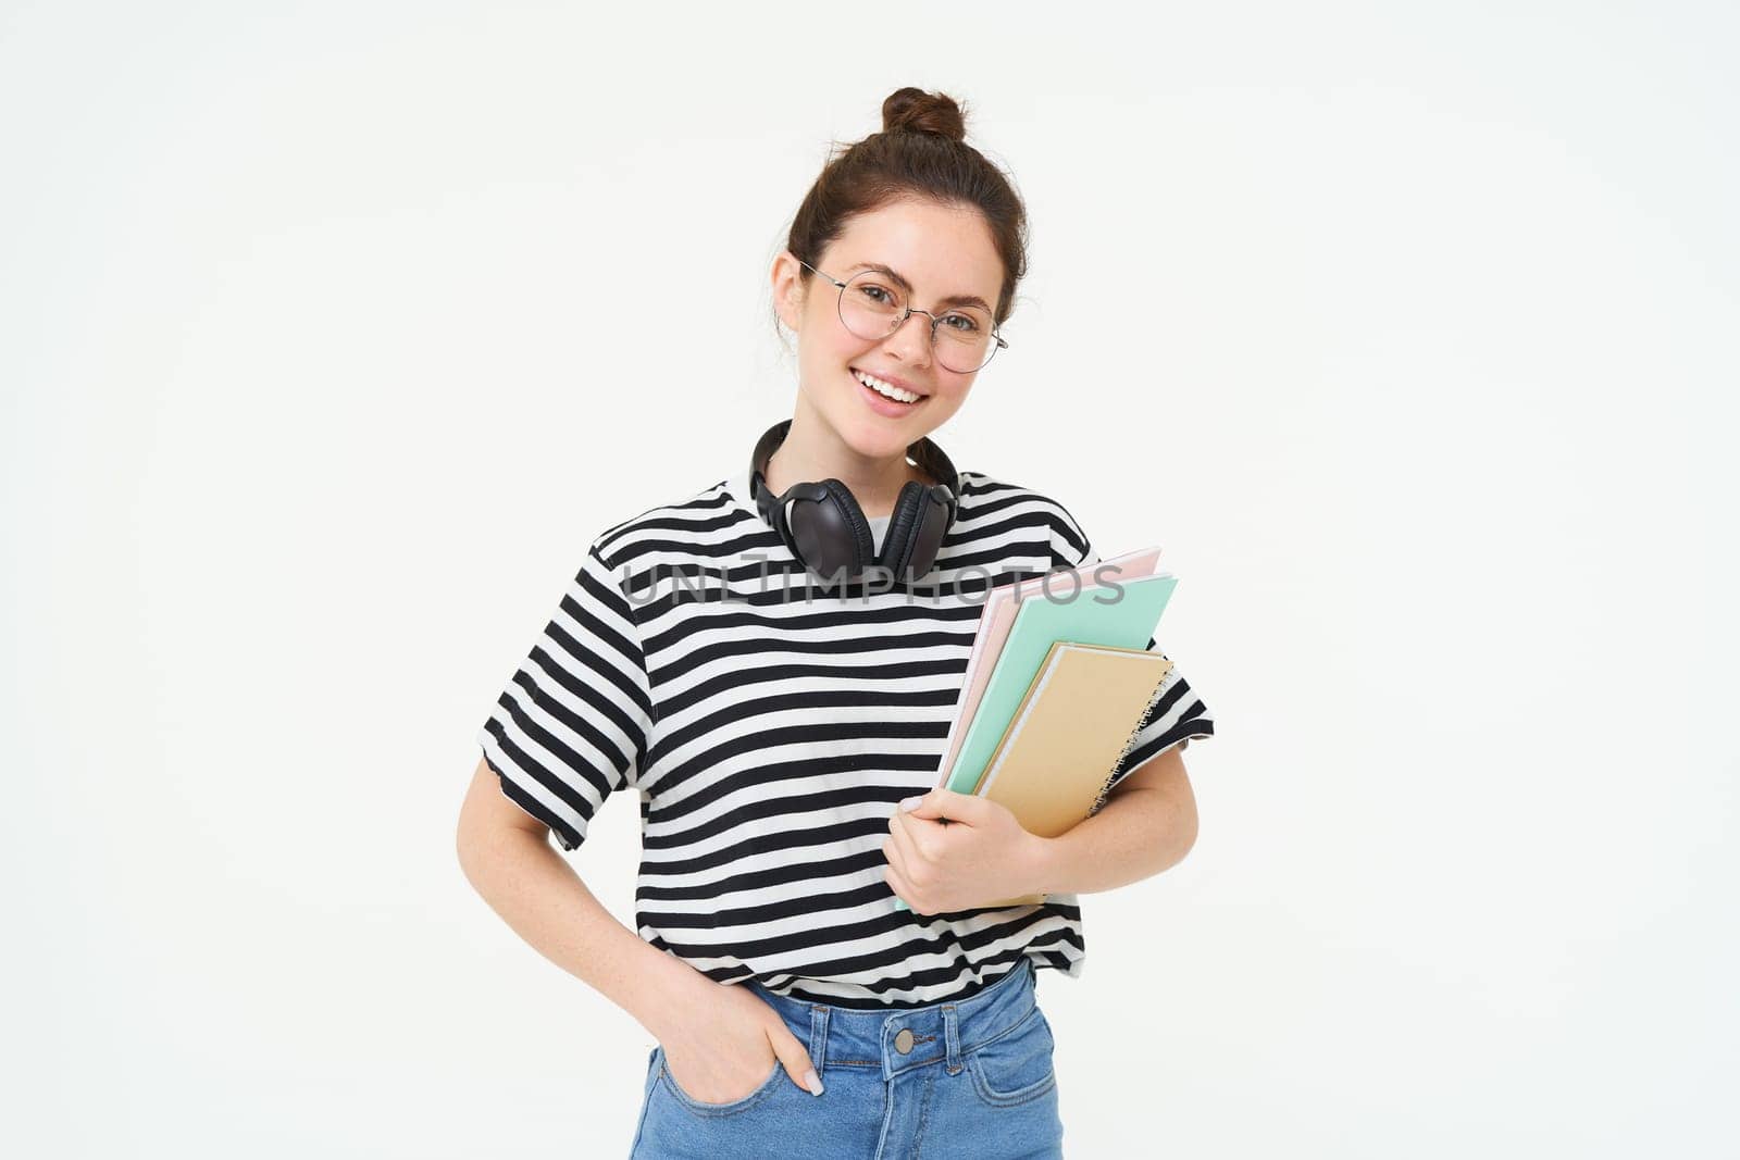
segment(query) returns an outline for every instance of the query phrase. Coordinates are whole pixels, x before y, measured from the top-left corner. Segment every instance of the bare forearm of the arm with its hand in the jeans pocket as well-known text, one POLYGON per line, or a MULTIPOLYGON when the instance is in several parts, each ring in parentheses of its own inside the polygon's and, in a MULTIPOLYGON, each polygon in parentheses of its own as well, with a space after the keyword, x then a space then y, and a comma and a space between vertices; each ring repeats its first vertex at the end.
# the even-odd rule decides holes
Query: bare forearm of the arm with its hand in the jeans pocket
POLYGON ((654 1038, 663 1040, 673 997, 712 983, 618 922, 548 838, 494 830, 461 843, 459 864, 491 910, 539 955, 626 1010, 654 1038))

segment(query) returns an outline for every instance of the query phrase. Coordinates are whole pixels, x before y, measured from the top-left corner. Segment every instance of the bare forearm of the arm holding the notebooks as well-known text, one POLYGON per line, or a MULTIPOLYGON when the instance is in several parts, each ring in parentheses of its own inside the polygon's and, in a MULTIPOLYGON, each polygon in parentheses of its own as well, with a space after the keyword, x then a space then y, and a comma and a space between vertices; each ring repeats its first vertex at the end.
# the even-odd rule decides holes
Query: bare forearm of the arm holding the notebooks
POLYGON ((1093 894, 1150 878, 1183 861, 1195 814, 1161 790, 1129 786, 1054 838, 1035 838, 1030 892, 1093 894))

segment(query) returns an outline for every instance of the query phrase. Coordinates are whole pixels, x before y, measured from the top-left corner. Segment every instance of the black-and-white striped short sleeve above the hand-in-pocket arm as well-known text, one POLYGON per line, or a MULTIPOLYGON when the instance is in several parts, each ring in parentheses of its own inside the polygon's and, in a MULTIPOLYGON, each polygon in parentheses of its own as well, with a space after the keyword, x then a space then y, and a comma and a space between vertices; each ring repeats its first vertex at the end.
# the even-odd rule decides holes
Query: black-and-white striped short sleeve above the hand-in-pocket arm
POLYGON ((646 762, 652 697, 633 609, 597 541, 477 743, 515 805, 564 850, 646 762))

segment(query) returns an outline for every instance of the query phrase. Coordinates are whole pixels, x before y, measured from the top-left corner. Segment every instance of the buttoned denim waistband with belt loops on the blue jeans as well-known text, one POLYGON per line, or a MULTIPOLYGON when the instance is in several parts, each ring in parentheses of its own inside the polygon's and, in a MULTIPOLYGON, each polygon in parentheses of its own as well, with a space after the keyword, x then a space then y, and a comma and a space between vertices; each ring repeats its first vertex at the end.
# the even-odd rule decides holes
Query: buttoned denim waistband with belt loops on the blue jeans
POLYGON ((882 1078, 893 1080, 933 1063, 959 1075, 967 1052, 1014 1028, 1037 1007, 1034 960, 1025 955, 1014 969, 967 998, 887 1012, 788 998, 753 981, 745 986, 809 1043, 809 1059, 821 1077, 830 1066, 880 1068, 882 1078))

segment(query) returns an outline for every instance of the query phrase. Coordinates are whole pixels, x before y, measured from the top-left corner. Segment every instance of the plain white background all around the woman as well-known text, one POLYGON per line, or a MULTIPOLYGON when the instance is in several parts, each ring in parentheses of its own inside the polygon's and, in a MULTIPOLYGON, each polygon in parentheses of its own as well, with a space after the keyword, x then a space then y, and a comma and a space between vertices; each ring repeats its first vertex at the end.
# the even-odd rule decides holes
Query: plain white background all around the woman
POLYGON ((1735 1155, 1723 9, 7 3, 0 1144, 626 1155, 472 739, 792 414, 767 266, 917 83, 1034 230, 938 440, 1164 546, 1220 727, 1041 974, 1070 1155, 1735 1155))

